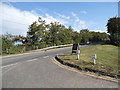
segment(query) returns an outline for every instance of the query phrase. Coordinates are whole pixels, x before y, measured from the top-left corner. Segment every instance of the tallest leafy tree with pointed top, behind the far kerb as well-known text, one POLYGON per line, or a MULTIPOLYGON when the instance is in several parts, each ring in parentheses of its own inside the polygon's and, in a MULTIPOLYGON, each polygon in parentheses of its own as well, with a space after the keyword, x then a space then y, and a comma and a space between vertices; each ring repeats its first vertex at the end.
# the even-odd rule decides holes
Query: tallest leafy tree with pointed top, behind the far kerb
MULTIPOLYGON (((45 20, 39 17, 38 22, 33 22, 30 27, 29 31, 27 32, 27 37, 29 37, 29 43, 34 49, 41 48, 41 42, 44 42, 45 35, 46 35, 46 24, 45 20)), ((45 43, 45 42, 44 42, 45 43)), ((44 45, 45 46, 45 45, 44 45)))

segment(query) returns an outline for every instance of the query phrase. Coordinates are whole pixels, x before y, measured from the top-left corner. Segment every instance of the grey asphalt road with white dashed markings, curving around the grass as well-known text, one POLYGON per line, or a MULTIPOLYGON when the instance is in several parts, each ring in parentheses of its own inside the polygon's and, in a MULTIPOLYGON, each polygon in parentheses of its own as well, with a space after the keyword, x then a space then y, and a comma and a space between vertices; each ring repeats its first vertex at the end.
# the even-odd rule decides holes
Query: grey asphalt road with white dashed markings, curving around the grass
MULTIPOLYGON (((83 46, 85 47, 85 46, 83 46)), ((63 69, 52 62, 71 47, 2 59, 3 88, 118 88, 118 84, 63 69)))

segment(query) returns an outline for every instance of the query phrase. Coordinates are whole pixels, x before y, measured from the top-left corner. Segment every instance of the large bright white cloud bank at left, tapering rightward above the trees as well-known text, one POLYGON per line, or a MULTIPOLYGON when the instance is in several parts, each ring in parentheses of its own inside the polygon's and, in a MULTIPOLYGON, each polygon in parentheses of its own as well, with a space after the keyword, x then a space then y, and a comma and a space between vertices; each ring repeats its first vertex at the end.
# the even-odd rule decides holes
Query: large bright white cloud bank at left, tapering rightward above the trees
MULTIPOLYGON (((2 20, 2 34, 9 32, 14 35, 26 35, 29 25, 32 22, 37 21, 38 17, 41 17, 46 21, 47 24, 51 22, 60 22, 61 24, 67 23, 62 19, 56 19, 47 13, 45 17, 38 15, 34 10, 32 11, 21 11, 11 5, 2 4, 3 8, 0 8, 0 19, 2 20)), ((0 26, 1 27, 1 26, 0 26)))

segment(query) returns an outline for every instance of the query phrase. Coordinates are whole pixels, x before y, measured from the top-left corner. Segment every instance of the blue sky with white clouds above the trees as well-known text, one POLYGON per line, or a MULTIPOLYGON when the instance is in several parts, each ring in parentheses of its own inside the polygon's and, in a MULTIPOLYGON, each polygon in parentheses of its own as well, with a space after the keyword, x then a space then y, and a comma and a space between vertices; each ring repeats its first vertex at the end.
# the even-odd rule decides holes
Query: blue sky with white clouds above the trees
MULTIPOLYGON (((109 18, 118 16, 117 2, 5 2, 0 7, 2 34, 26 36, 29 25, 41 17, 75 31, 107 32, 109 18)), ((1 26, 0 26, 1 27, 1 26)))

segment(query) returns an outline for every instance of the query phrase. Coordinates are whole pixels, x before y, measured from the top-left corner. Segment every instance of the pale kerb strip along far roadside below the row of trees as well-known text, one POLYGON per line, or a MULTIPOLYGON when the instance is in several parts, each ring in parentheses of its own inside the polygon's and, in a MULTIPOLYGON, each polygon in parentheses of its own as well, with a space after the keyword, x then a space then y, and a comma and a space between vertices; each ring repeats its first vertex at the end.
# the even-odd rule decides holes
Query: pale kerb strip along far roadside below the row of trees
POLYGON ((25 54, 30 54, 30 53, 36 53, 39 51, 44 51, 44 50, 49 50, 49 49, 55 49, 55 48, 63 48, 63 47, 69 47, 72 44, 67 44, 67 45, 59 45, 59 46, 52 46, 52 47, 47 47, 47 48, 43 48, 43 49, 37 49, 37 50, 32 50, 28 53, 21 53, 21 54, 14 54, 14 55, 7 55, 7 56, 0 56, 0 58, 5 58, 5 57, 12 57, 12 56, 19 56, 19 55, 25 55, 25 54))

